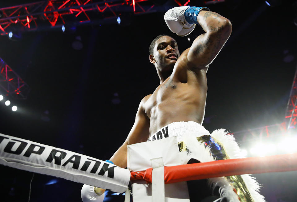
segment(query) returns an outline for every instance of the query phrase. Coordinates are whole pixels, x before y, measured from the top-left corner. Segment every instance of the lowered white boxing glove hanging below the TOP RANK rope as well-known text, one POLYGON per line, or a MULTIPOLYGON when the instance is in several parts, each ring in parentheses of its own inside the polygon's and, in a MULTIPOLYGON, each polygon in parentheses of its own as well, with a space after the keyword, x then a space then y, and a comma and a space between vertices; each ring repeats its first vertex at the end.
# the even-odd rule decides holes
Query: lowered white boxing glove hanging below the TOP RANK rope
POLYGON ((84 184, 80 192, 81 200, 83 202, 102 202, 104 200, 104 191, 104 189, 84 184), (99 189, 99 191, 96 190, 95 192, 95 189, 99 189))

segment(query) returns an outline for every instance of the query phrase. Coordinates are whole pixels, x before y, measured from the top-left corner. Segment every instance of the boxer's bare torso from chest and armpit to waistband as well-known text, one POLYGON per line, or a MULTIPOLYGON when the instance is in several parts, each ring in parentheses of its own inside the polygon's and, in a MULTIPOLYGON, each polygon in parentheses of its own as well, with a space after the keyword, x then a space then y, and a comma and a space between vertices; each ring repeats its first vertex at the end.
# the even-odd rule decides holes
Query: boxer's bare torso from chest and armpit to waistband
POLYGON ((173 122, 195 121, 202 124, 207 93, 206 70, 189 70, 177 61, 173 73, 143 105, 149 117, 149 133, 173 122))

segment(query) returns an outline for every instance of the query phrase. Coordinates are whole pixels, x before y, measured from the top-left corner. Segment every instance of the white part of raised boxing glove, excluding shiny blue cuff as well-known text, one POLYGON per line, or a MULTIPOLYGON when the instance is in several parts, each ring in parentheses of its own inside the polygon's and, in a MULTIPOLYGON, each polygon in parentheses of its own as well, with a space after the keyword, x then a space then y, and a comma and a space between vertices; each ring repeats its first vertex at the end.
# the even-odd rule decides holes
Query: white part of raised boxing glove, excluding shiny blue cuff
POLYGON ((170 31, 176 33, 178 36, 187 36, 190 34, 196 24, 190 24, 185 19, 185 11, 189 6, 179 6, 169 9, 164 19, 170 31))

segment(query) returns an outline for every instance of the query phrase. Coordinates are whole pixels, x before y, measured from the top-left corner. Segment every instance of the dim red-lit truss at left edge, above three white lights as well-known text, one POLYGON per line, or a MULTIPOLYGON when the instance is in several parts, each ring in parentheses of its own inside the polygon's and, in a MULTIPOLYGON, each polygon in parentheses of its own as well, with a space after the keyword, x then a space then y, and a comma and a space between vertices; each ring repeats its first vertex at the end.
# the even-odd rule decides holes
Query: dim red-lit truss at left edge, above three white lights
POLYGON ((17 99, 26 99, 30 91, 29 86, 0 58, 0 87, 6 95, 17 99))

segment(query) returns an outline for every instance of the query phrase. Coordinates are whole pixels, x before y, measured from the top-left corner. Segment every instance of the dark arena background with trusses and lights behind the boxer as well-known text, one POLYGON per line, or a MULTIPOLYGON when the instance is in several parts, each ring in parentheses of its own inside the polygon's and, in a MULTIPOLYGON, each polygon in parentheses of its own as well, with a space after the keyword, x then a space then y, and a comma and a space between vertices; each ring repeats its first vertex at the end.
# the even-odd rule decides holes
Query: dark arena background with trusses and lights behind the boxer
MULTIPOLYGON (((0 133, 109 159, 159 85, 150 42, 168 34, 183 52, 204 33, 170 32, 163 16, 180 5, 209 7, 233 25, 207 72, 203 126, 229 130, 246 157, 297 152, 293 0, 1 1, 0 133)), ((81 201, 80 183, 0 171, 1 201, 81 201)), ((267 201, 297 201, 296 171, 254 176, 267 201)))

